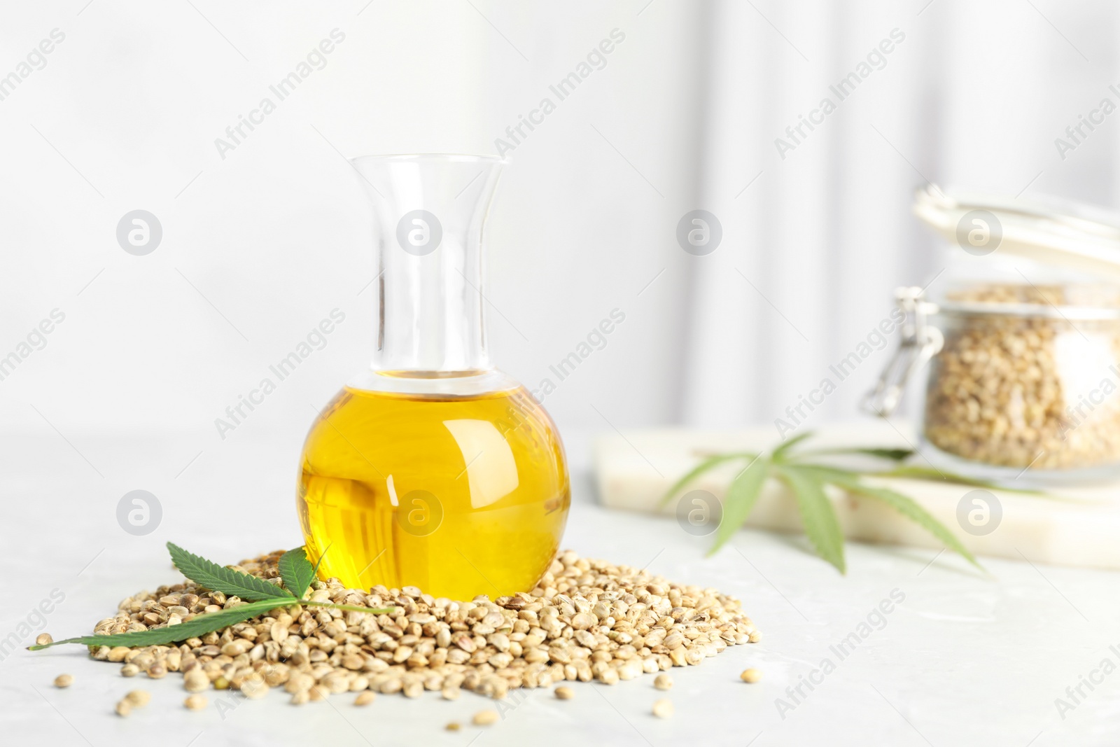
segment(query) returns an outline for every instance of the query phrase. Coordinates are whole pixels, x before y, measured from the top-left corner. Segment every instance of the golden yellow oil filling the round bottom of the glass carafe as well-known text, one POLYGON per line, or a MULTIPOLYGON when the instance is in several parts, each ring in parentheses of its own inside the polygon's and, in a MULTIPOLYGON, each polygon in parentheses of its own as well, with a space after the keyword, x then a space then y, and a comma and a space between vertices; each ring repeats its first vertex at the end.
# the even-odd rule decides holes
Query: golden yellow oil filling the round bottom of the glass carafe
POLYGON ((297 506, 320 578, 436 597, 529 591, 556 553, 563 447, 523 387, 478 396, 345 387, 304 445, 297 506))

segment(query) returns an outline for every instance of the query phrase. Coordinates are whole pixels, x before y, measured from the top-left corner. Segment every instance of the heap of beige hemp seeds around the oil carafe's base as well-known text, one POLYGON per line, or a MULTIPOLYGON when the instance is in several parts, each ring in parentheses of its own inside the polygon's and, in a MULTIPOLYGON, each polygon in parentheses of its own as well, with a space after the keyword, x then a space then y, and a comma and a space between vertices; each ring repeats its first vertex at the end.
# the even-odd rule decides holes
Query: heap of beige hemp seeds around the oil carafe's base
MULTIPOLYGON (((234 568, 279 583, 281 554, 234 568)), ((502 698, 511 688, 547 688, 561 680, 615 684, 700 664, 760 635, 739 601, 716 589, 672 583, 572 551, 559 554, 531 592, 493 601, 433 599, 414 587, 347 589, 337 579, 311 588, 310 599, 396 610, 373 615, 297 604, 178 646, 90 651, 96 660, 120 663, 124 676, 181 672, 188 692, 232 688, 248 698, 283 688, 300 704, 344 692, 368 702, 372 692, 416 698, 438 690, 454 700, 461 688, 502 698)), ((192 581, 162 586, 124 599, 94 633, 176 625, 239 604, 192 581)), ((659 675, 659 688, 664 683, 671 680, 659 675)), ((188 707, 199 703, 205 700, 195 698, 188 707)))

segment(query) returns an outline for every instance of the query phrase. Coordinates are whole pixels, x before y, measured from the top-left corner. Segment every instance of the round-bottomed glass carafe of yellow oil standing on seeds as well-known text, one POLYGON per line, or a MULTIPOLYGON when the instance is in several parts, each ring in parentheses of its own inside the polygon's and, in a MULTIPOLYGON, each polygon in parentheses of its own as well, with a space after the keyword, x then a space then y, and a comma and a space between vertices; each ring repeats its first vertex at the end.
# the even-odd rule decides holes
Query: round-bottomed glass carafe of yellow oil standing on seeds
POLYGON ((502 161, 353 161, 376 221, 376 352, 311 426, 297 493, 319 576, 436 597, 528 591, 569 507, 552 420, 486 354, 483 240, 502 161))

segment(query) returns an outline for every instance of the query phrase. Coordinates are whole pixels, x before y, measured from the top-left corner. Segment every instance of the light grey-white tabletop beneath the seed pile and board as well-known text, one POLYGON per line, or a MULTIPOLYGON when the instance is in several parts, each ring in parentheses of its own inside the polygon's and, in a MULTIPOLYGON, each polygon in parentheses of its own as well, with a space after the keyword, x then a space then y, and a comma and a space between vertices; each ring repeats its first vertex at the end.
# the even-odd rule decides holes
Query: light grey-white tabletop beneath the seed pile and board
MULTIPOLYGON (((236 436, 236 435, 235 435, 236 436)), ((112 438, 67 435, 6 438, 0 573, 7 604, 0 638, 52 589, 65 601, 48 617, 56 638, 90 632, 119 599, 174 581, 164 542, 172 540, 224 562, 300 543, 292 486, 298 438, 279 445, 213 435, 112 438), (184 470, 198 452, 202 455, 184 470), (116 524, 120 497, 151 491, 161 525, 132 536, 116 524)), ((839 576, 804 550, 802 538, 744 531, 712 558, 708 539, 670 519, 608 512, 595 502, 587 439, 568 435, 573 499, 564 545, 589 557, 666 578, 710 585, 744 601, 764 634, 697 667, 672 671, 676 713, 650 713, 662 693, 652 675, 614 687, 572 683, 576 698, 528 693, 496 726, 470 716, 494 703, 465 692, 417 700, 353 697, 301 708, 282 692, 236 701, 220 713, 183 708, 181 678, 123 679, 113 664, 80 646, 17 651, 0 661, 0 743, 6 745, 1116 745, 1120 743, 1120 673, 1112 672, 1061 718, 1066 697, 1103 659, 1120 665, 1120 576, 984 559, 991 576, 948 553, 848 545, 839 576), (836 645, 898 589, 905 600, 843 661, 836 645), (836 670, 785 718, 776 699, 829 657, 836 670), (760 683, 739 672, 756 666, 760 683), (52 687, 69 672, 74 684, 52 687), (151 703, 127 719, 113 704, 144 688, 151 703), (448 721, 464 725, 448 732, 448 721), (199 736, 200 735, 200 736, 199 736)), ((30 637, 34 637, 30 636, 30 637)), ((25 641, 22 645, 31 643, 25 641)), ((820 675, 815 675, 820 680, 820 675)), ((1098 675, 1098 679, 1100 676, 1098 675)), ((791 701, 792 702, 792 701, 791 701)), ((1072 702, 1072 701, 1071 701, 1072 702)))

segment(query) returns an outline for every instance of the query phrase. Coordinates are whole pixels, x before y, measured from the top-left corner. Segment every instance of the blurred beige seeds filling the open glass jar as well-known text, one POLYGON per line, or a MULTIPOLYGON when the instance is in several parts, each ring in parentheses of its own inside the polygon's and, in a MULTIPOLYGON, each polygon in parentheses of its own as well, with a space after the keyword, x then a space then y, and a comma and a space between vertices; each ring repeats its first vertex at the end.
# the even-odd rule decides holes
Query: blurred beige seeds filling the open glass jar
POLYGON ((949 300, 990 304, 992 312, 946 309, 925 403, 933 446, 1020 469, 1120 463, 1120 320, 1071 321, 1058 309, 1120 308, 1117 291, 978 286, 949 300), (1039 314, 1010 315, 1006 305, 1035 305, 1039 314))

